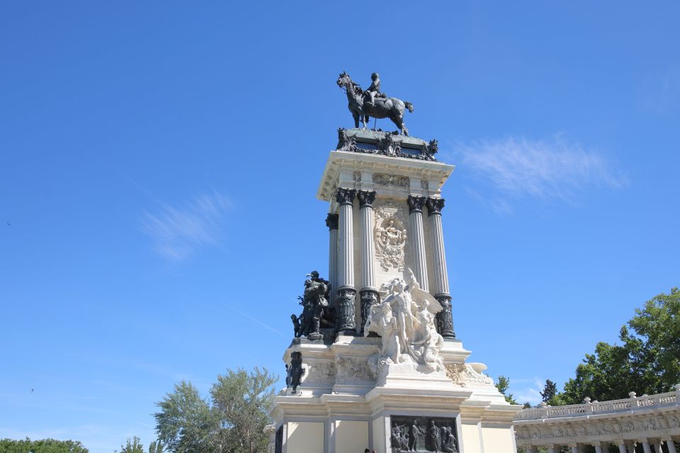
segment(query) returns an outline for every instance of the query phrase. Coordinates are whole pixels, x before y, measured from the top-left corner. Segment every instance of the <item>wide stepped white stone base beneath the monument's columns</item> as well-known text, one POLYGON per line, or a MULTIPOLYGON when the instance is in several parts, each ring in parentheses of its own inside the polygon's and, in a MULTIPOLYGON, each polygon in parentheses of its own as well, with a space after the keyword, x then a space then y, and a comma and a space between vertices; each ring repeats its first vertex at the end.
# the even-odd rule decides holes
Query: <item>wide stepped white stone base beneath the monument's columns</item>
POLYGON ((470 351, 460 340, 444 341, 443 369, 400 362, 374 372, 368 364, 381 343, 379 337, 341 334, 333 343, 295 339, 283 360, 290 363, 300 352, 305 374, 296 394, 284 389, 274 398, 274 425, 267 430, 272 451, 404 452, 399 442, 403 447, 415 420, 422 428, 417 452, 433 452, 433 442, 441 442, 458 452, 516 453, 512 419, 521 406, 506 403, 483 374, 485 365, 466 362, 470 351))

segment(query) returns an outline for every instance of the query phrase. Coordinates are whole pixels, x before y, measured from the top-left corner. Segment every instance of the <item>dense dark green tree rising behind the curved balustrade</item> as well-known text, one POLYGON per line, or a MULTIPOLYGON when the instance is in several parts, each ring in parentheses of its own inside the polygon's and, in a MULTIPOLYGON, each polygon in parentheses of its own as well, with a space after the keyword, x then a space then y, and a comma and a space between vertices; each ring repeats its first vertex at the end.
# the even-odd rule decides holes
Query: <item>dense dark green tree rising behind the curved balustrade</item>
POLYGON ((576 377, 559 396, 567 404, 586 396, 601 401, 628 397, 630 391, 655 394, 680 382, 680 291, 659 294, 635 310, 621 327, 621 344, 597 343, 577 366, 576 377))

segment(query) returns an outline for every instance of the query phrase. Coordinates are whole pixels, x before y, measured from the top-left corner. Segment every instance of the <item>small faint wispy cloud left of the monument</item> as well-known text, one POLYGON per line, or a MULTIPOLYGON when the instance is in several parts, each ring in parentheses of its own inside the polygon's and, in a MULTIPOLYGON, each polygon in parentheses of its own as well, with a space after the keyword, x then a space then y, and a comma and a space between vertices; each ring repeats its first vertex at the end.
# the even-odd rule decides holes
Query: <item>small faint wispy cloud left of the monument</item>
POLYGON ((154 241, 154 251, 172 261, 181 261, 198 248, 217 244, 229 199, 213 191, 191 202, 159 212, 145 212, 142 229, 154 241))

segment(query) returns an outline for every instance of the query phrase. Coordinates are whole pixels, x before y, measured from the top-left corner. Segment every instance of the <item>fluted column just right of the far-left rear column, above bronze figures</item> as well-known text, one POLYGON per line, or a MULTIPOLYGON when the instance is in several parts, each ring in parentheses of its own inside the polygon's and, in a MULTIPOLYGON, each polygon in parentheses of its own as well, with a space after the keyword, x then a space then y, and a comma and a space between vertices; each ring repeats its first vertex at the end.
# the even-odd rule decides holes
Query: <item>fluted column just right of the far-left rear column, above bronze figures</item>
POLYGON ((338 256, 338 288, 335 303, 336 327, 339 334, 355 335, 354 320, 354 234, 352 206, 356 190, 339 188, 336 201, 340 205, 338 217, 338 236, 340 250, 338 256))

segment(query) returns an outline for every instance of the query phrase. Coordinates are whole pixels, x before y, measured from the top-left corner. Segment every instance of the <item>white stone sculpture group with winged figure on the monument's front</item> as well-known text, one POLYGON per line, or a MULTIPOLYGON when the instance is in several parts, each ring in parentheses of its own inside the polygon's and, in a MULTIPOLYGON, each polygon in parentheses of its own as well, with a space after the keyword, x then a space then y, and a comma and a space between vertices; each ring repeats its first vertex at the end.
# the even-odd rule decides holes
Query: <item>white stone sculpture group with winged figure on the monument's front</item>
POLYGON ((397 277, 382 285, 389 295, 380 304, 370 307, 365 321, 364 336, 375 332, 382 337, 380 352, 368 359, 375 374, 387 364, 404 362, 424 365, 427 372, 444 370, 439 354, 444 340, 434 323, 441 305, 420 289, 410 269, 407 279, 408 282, 404 282, 397 277))

